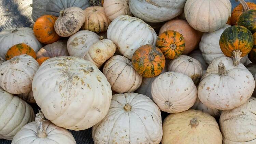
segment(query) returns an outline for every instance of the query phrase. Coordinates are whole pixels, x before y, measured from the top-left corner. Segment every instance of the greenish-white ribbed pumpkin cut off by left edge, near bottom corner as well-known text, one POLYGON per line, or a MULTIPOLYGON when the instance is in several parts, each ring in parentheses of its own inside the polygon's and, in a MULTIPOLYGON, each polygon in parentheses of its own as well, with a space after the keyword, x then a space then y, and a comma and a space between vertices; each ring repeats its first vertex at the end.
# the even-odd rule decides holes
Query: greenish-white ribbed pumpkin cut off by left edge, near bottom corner
POLYGON ((34 111, 28 103, 2 88, 0 88, 0 103, 0 139, 12 140, 24 125, 33 121, 34 111))

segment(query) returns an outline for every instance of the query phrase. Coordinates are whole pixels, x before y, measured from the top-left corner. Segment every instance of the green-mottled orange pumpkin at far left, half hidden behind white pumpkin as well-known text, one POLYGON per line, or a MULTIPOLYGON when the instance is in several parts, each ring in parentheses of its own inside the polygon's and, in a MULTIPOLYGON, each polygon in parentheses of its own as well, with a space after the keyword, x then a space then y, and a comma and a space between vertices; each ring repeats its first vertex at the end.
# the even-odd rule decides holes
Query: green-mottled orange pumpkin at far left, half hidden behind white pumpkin
POLYGON ((19 43, 9 48, 9 50, 5 55, 5 59, 9 60, 15 56, 24 55, 24 54, 30 55, 34 59, 37 58, 37 54, 35 53, 33 48, 31 48, 29 45, 25 43, 19 43))

